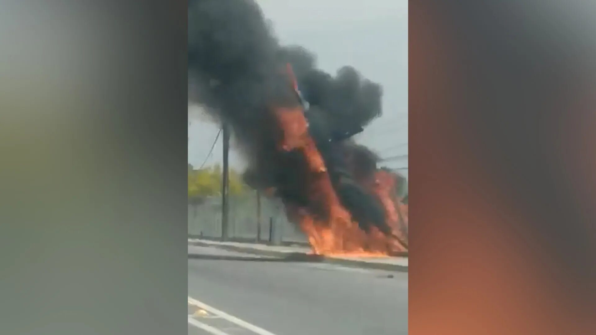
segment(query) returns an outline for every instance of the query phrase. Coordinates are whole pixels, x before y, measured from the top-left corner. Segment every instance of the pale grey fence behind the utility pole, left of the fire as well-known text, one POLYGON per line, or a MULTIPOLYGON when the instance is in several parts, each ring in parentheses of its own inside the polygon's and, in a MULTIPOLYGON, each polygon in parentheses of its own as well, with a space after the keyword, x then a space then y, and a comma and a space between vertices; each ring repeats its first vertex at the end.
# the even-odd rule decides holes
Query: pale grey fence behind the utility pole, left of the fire
MULTIPOLYGON (((189 237, 221 238, 221 216, 221 196, 206 198, 201 203, 189 203, 189 237)), ((256 192, 249 192, 243 196, 229 196, 228 239, 307 243, 306 236, 300 228, 288 222, 283 204, 263 196, 260 196, 259 201, 256 192)))

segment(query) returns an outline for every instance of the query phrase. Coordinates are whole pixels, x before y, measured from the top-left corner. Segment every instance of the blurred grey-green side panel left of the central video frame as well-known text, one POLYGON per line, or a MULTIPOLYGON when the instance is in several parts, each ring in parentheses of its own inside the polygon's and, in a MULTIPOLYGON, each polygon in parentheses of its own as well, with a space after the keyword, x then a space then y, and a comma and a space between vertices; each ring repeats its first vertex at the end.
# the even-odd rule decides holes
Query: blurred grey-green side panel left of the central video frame
POLYGON ((0 333, 185 333, 186 5, 0 6, 0 333))

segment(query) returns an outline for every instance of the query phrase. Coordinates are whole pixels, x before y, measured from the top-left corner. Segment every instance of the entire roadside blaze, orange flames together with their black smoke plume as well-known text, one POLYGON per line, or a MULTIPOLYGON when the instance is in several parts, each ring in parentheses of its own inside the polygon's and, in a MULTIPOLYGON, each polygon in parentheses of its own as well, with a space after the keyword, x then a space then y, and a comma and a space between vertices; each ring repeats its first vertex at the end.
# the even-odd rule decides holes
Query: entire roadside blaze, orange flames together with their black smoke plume
POLYGON ((277 45, 254 2, 218 2, 189 5, 190 93, 232 126, 247 184, 281 198, 316 254, 407 251, 400 176, 352 139, 380 116, 380 86, 351 67, 331 77, 305 49, 277 45))

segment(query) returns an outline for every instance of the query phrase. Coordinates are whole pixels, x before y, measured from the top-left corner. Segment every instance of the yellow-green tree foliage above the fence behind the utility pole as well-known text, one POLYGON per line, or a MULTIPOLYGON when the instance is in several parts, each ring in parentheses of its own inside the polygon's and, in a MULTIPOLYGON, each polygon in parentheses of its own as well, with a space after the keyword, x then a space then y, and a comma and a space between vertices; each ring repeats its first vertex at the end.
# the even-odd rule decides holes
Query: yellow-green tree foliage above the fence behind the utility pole
MULTIPOLYGON (((236 196, 247 191, 240 173, 229 170, 229 194, 236 196)), ((221 194, 222 169, 219 165, 210 168, 194 169, 188 166, 188 198, 200 199, 221 194)))

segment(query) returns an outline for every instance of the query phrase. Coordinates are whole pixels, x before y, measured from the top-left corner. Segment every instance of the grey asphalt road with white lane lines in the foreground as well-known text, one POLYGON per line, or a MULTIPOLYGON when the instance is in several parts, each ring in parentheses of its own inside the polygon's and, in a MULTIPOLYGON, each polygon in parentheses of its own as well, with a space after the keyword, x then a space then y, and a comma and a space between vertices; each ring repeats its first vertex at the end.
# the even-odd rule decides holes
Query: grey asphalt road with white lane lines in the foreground
POLYGON ((188 259, 188 334, 408 333, 406 273, 206 247, 189 246, 189 253, 200 258, 188 259))

